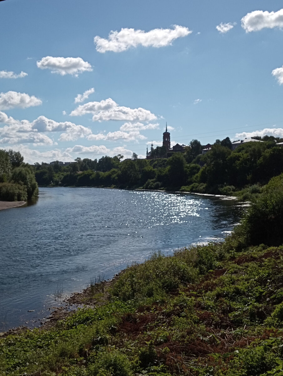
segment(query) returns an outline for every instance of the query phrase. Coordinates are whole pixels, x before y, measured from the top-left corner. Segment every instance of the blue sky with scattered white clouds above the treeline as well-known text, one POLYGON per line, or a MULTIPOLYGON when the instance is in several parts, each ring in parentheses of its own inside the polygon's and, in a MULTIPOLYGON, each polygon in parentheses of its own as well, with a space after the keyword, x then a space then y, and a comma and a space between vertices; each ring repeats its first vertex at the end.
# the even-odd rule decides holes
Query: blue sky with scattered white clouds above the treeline
POLYGON ((0 1, 0 148, 28 163, 283 137, 283 4, 0 1), (280 47, 280 48, 279 48, 280 47))

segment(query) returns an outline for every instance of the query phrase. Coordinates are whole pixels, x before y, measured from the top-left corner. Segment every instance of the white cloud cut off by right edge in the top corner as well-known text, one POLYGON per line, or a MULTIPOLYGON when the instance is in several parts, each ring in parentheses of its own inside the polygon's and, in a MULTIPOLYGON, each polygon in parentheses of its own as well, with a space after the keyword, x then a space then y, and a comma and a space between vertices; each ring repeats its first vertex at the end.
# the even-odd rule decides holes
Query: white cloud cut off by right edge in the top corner
POLYGON ((277 12, 253 11, 246 14, 242 20, 242 28, 249 33, 259 31, 265 27, 273 29, 274 27, 283 27, 283 9, 277 12))

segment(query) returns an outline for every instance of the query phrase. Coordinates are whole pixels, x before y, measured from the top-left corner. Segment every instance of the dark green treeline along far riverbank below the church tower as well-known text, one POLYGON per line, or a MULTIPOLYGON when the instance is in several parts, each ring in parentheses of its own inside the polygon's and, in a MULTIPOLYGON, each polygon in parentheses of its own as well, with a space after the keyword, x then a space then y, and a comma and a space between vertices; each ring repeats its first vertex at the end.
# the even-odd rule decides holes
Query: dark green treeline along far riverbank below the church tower
MULTIPOLYGON (((280 141, 280 140, 279 140, 280 141)), ((156 148, 154 155, 160 154, 156 148)), ((61 166, 35 165, 39 185, 107 186, 143 188, 148 190, 182 190, 198 193, 235 194, 242 198, 259 193, 273 176, 283 172, 283 149, 274 137, 265 142, 243 143, 232 151, 229 137, 216 140, 211 150, 201 154, 199 141, 192 140, 184 153, 169 158, 132 159, 103 156, 98 161, 76 159, 76 163, 61 166)), ((161 150, 162 152, 162 150, 161 150)))

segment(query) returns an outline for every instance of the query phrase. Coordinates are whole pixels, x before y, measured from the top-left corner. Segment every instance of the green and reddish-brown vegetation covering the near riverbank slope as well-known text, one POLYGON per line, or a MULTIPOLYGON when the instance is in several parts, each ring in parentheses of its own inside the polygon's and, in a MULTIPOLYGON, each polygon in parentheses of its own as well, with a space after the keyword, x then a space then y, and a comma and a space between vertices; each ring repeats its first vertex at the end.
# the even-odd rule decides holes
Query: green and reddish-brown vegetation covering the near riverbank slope
POLYGON ((223 243, 155 253, 53 327, 0 339, 0 375, 283 375, 283 174, 223 243))

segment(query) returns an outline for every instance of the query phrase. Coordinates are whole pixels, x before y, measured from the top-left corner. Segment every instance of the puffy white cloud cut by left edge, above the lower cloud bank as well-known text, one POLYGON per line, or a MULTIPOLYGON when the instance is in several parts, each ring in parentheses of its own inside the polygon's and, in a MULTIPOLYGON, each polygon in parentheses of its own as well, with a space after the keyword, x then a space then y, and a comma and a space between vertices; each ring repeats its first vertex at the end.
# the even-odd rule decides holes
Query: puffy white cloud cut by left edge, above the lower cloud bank
POLYGON ((29 96, 26 93, 19 93, 16 91, 7 91, 0 93, 0 109, 8 110, 10 108, 19 107, 27 108, 31 106, 42 105, 42 101, 35 96, 29 96))

